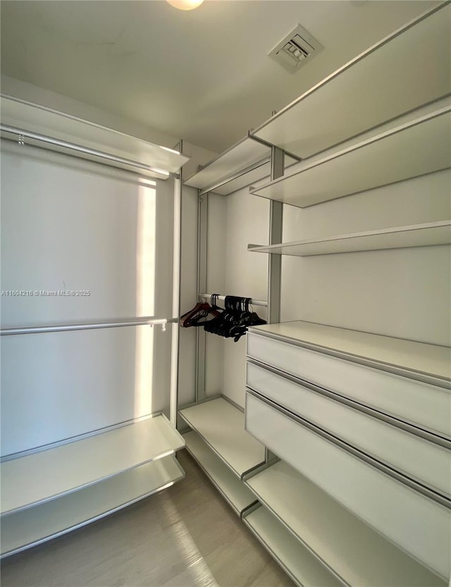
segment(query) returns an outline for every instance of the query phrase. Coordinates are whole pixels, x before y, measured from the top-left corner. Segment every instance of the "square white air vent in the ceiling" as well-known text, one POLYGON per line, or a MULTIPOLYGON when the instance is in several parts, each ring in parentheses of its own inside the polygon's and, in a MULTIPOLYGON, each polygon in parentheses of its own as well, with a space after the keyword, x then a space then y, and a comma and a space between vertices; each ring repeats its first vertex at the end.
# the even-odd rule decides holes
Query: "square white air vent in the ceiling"
POLYGON ((295 30, 292 30, 268 53, 268 56, 288 72, 295 73, 322 49, 323 46, 307 30, 297 25, 295 30))

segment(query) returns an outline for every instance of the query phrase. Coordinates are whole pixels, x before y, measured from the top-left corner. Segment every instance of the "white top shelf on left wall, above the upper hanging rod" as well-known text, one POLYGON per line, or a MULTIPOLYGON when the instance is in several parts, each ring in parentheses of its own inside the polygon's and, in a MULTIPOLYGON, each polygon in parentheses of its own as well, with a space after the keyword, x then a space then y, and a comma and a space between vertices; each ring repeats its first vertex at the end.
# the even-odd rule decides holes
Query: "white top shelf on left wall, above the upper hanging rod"
POLYGON ((77 154, 83 159, 108 163, 145 177, 167 179, 190 159, 174 149, 4 96, 1 97, 1 125, 4 138, 18 140, 16 131, 20 130, 25 144, 77 154), (8 132, 7 128, 15 132, 8 132))

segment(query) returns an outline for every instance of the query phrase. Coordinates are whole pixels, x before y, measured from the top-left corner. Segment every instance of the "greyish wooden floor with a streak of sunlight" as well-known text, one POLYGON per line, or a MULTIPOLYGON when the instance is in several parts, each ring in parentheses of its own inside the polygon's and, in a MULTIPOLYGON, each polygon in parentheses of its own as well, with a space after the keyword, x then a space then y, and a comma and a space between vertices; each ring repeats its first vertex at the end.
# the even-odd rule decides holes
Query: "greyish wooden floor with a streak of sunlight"
POLYGON ((158 495, 1 562, 1 587, 292 587, 190 455, 158 495))

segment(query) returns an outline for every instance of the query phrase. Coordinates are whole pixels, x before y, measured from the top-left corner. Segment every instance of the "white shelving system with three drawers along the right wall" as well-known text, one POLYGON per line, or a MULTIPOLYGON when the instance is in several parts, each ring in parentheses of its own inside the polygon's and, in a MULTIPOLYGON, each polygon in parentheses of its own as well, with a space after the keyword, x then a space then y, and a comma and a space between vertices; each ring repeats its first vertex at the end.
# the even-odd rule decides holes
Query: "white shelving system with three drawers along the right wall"
MULTIPOLYGON (((251 194, 303 208, 450 168, 450 22, 450 3, 433 8, 249 132, 247 141, 254 137, 273 147, 271 164, 276 164, 280 150, 301 159, 285 167, 285 175, 280 177, 279 168, 272 180, 262 180, 257 170, 264 163, 244 180, 234 166, 221 167, 214 175, 212 163, 190 185, 204 193, 227 185, 229 175, 229 187, 214 190, 226 194, 249 185, 250 179, 254 185, 258 182, 251 194), (436 66, 431 68, 431 63, 436 66)), ((233 149, 237 146, 217 161, 228 161, 233 149)), ((255 164, 254 159, 247 163, 255 164)), ((274 242, 248 249, 270 254, 272 263, 273 255, 449 245, 451 221, 274 242)), ((277 271, 270 272, 271 291, 277 290, 278 279, 277 271)), ((450 350, 300 322, 252 328, 247 343, 246 427, 283 459, 260 467, 257 459, 244 474, 247 488, 261 504, 242 512, 249 529, 299 586, 444 587, 449 580, 445 520, 450 494, 450 350), (337 411, 346 416, 344 421, 349 416, 366 423, 366 443, 357 438, 359 426, 340 428, 340 418, 332 415, 337 411), (336 426, 328 426, 328 419, 336 426), (399 436, 399 454, 390 452, 387 438, 393 434, 399 436), (312 461, 303 443, 316 450, 312 461), (330 459, 328 451, 334 455, 330 459), (419 456, 426 452, 429 471, 424 471, 419 456), (411 458, 414 454, 418 462, 411 458), (343 470, 359 470, 359 487, 349 486, 335 461, 343 470), (309 464, 312 471, 321 471, 321 478, 313 473, 309 478, 309 464), (366 474, 380 483, 381 495, 371 495, 366 474), (347 487, 343 494, 342 486, 347 487), (354 490, 359 493, 355 505, 346 502, 354 490), (386 524, 382 515, 374 517, 381 504, 390 511, 395 502, 399 512, 386 524), (437 523, 435 536, 426 531, 429 516, 437 523), (405 532, 409 517, 412 527, 426 524, 424 531, 413 532, 421 535, 418 540, 405 532)), ((245 467, 234 464, 230 451, 242 439, 238 441, 235 426, 229 428, 223 420, 224 403, 206 402, 181 415, 237 475, 245 467), (205 412, 204 424, 195 421, 199 409, 205 412)), ((266 452, 266 461, 271 452, 266 452)))

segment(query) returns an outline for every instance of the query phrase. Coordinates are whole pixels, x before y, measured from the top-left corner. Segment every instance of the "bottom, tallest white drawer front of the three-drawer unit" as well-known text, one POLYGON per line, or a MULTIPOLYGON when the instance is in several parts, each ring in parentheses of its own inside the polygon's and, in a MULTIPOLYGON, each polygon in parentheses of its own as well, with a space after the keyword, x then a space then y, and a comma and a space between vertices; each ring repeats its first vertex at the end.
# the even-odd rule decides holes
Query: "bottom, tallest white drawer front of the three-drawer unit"
MULTIPOLYGON (((247 393, 246 429, 342 505, 450 577, 450 511, 247 393)), ((383 562, 381 562, 383 564, 383 562)))

